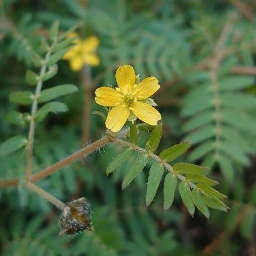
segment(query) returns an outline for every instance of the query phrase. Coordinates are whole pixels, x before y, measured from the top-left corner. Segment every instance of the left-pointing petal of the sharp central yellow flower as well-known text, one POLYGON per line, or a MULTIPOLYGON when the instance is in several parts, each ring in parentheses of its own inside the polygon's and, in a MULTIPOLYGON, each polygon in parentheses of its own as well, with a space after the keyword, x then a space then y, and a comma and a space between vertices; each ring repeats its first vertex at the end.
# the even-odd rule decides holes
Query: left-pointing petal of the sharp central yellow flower
POLYGON ((102 106, 114 107, 123 103, 123 95, 110 87, 98 88, 95 94, 95 101, 102 106))

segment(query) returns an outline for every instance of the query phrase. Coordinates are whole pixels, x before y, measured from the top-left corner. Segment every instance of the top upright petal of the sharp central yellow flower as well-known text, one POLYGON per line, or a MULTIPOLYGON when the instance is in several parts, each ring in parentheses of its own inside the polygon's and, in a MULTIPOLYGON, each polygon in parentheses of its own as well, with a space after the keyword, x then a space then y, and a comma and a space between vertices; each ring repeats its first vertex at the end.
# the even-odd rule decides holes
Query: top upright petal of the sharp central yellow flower
POLYGON ((135 84, 135 71, 132 66, 119 66, 116 70, 115 78, 117 85, 123 94, 132 92, 133 86, 135 84))

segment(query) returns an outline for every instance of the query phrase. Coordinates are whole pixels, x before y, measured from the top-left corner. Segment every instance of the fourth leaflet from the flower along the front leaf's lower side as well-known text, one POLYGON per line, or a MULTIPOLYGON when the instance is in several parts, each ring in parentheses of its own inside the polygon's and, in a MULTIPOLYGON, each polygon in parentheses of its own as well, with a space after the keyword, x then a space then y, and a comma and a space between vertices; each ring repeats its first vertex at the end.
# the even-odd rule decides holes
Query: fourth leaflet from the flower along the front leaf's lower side
POLYGON ((163 209, 167 210, 174 201, 175 189, 177 186, 177 177, 172 174, 166 174, 164 178, 164 187, 163 187, 163 209))

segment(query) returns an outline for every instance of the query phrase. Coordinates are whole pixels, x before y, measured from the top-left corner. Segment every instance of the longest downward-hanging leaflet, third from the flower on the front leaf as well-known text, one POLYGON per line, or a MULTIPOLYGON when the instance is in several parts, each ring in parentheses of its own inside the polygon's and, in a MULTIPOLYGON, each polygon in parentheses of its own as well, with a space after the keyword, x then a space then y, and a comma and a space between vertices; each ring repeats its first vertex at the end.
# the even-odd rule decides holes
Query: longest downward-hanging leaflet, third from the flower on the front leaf
POLYGON ((149 170, 149 178, 146 192, 146 205, 150 205, 153 201, 157 188, 161 182, 163 175, 163 166, 160 162, 154 162, 149 170))

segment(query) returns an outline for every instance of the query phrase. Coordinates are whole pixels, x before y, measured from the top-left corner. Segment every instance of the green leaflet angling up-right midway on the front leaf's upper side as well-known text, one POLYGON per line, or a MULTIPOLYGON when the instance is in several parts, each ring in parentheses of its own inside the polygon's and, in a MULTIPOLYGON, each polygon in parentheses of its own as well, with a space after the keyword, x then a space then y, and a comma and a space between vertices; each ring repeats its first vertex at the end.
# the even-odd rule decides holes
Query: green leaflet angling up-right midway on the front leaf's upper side
POLYGON ((189 142, 181 142, 170 148, 164 149, 159 154, 159 157, 166 162, 173 161, 177 157, 183 155, 189 149, 190 146, 191 144, 189 142))

